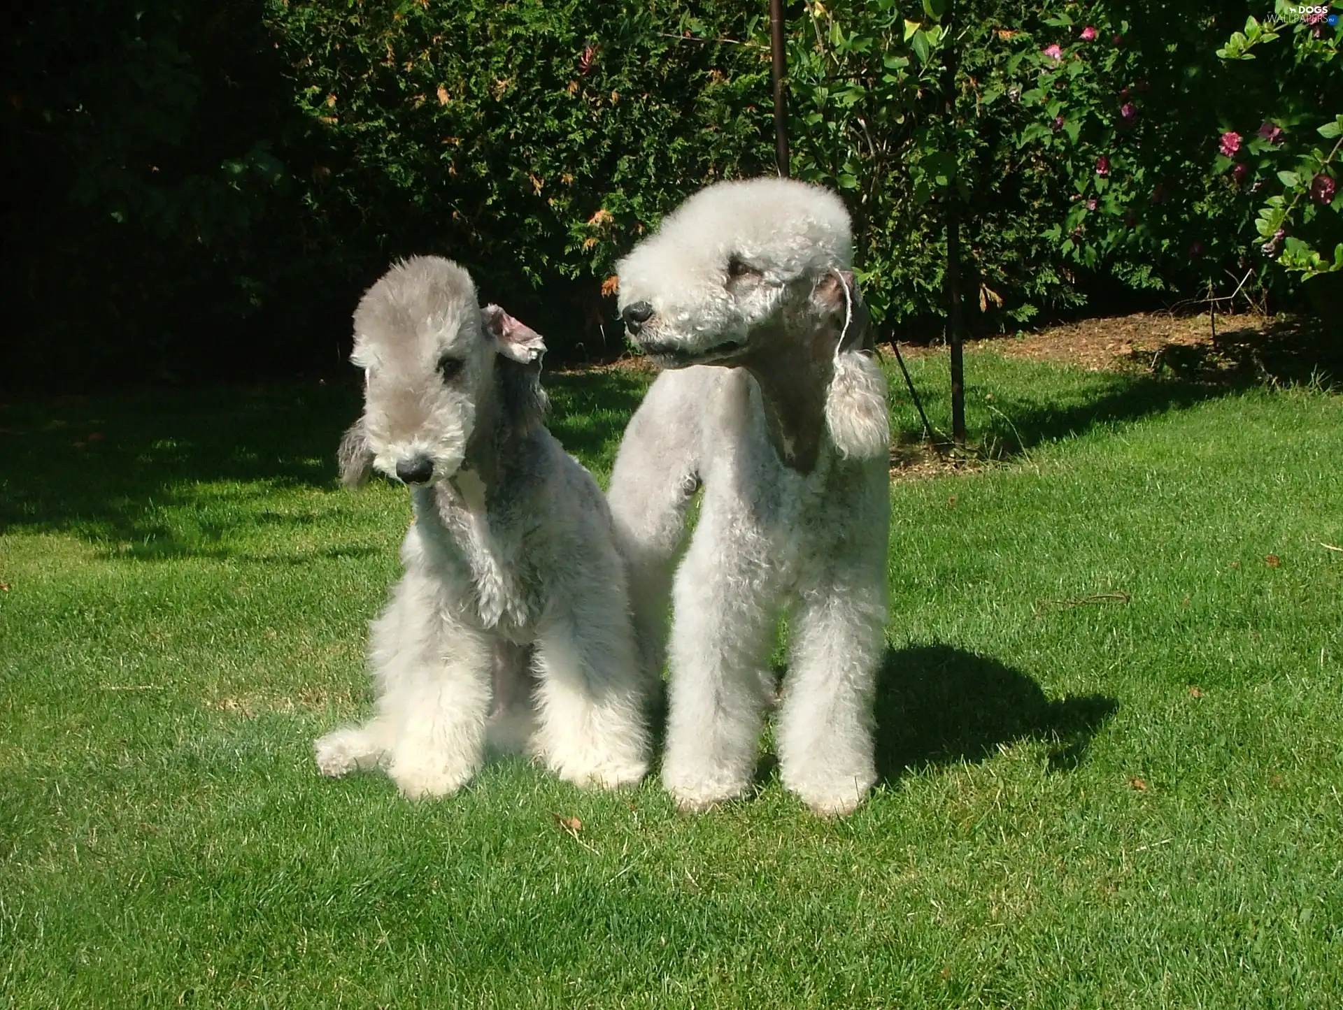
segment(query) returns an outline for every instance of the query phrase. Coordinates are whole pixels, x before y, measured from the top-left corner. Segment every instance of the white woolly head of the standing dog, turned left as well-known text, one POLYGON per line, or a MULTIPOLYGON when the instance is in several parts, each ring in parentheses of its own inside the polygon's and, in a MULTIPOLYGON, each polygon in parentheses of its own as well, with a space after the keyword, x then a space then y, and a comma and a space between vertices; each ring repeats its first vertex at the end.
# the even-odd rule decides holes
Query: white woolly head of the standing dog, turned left
POLYGON ((831 323, 847 338, 861 306, 851 260, 849 212, 834 193, 782 178, 719 182, 620 260, 620 318, 666 368, 733 365, 780 333, 831 323))

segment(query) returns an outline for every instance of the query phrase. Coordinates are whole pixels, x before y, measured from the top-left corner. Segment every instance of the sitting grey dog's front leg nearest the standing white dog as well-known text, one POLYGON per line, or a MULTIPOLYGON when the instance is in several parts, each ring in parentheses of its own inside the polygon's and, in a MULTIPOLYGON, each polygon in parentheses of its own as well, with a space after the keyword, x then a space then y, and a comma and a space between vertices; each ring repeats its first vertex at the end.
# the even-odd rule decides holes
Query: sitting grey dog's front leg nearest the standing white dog
POLYGON ((536 642, 533 750, 579 786, 638 782, 649 767, 647 679, 619 589, 618 578, 594 585, 549 616, 536 642))

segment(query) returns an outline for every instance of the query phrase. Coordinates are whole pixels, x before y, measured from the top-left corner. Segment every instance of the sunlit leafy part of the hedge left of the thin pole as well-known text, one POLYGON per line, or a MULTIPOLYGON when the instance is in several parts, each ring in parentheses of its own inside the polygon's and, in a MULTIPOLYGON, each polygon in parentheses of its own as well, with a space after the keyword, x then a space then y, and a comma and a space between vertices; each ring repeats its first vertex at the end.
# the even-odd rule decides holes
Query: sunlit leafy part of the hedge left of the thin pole
POLYGON ((595 311, 647 223, 770 157, 767 54, 717 42, 743 5, 710 8, 270 3, 322 138, 314 219, 379 264, 459 259, 485 296, 587 282, 595 311))

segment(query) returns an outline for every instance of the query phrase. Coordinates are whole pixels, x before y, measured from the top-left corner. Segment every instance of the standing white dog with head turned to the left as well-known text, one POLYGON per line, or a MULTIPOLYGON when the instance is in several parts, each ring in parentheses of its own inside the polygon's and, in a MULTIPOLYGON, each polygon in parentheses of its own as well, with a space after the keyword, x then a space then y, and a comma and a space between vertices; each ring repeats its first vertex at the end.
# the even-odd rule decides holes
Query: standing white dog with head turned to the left
POLYGON ((890 436, 851 255, 838 197, 753 180, 690 197, 618 267, 626 327, 669 370, 630 421, 608 498, 653 671, 673 596, 662 778, 688 809, 752 782, 784 608, 784 786, 843 814, 876 781, 890 436))

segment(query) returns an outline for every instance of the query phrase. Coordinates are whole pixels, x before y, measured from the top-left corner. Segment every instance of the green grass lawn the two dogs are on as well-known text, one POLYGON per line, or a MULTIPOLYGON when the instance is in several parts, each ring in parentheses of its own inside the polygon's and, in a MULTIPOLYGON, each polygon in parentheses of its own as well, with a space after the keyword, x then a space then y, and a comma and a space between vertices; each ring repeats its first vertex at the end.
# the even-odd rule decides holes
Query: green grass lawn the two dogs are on
MULTIPOLYGON (((1343 398, 968 376, 1001 461, 892 488, 839 822, 768 759, 698 817, 320 779, 408 519, 334 486, 357 393, 0 408, 0 1005, 1343 1005, 1343 398)), ((643 381, 551 378, 603 479, 643 381)))

